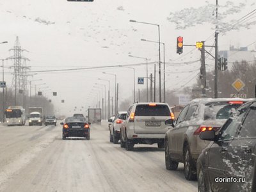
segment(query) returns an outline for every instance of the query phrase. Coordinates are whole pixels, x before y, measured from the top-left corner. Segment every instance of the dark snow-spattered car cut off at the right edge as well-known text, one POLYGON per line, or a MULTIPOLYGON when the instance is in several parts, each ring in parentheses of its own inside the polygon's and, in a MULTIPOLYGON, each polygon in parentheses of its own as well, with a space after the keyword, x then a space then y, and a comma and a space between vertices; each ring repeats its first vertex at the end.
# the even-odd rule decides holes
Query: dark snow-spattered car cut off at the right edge
POLYGON ((256 100, 239 107, 217 135, 208 130, 200 138, 212 142, 198 157, 198 191, 256 190, 256 100))

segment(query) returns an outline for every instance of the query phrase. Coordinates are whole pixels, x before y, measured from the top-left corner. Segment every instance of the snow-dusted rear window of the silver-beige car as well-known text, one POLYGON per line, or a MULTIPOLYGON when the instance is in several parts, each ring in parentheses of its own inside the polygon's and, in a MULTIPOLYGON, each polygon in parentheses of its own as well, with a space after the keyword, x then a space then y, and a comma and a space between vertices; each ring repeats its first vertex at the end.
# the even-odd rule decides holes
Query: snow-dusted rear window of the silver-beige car
POLYGON ((216 102, 206 104, 204 109, 204 120, 228 119, 232 108, 237 109, 241 104, 227 104, 227 102, 216 102))

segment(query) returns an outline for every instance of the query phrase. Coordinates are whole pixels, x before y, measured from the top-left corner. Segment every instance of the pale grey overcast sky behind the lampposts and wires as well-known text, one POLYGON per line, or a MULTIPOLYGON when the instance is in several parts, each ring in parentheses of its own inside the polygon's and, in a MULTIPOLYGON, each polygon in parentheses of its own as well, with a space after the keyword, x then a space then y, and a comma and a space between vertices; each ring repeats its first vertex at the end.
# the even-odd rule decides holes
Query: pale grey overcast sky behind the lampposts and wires
MULTIPOLYGON (((246 7, 228 19, 239 19, 251 12, 255 9, 254 1, 236 1, 237 5, 246 3, 246 7)), ((226 2, 219 1, 220 5, 226 2)), ((215 3, 215 1, 211 0, 209 3, 215 3)), ((177 36, 184 36, 184 44, 195 44, 196 41, 205 40, 211 36, 207 44, 212 45, 214 26, 204 24, 176 30, 175 25, 168 21, 167 17, 170 12, 205 5, 205 1, 189 0, 95 0, 93 3, 71 3, 65 0, 1 0, 0 42, 8 41, 9 43, 0 45, 0 58, 12 56, 12 52, 8 49, 13 47, 16 36, 19 36, 20 45, 29 51, 24 52, 24 56, 30 60, 27 64, 31 66, 31 71, 145 62, 130 58, 129 54, 147 57, 150 58, 150 62, 155 62, 158 60, 157 44, 141 42, 140 39, 157 41, 157 27, 133 23, 129 20, 152 22, 160 25, 161 42, 166 44, 166 62, 169 62, 166 64, 166 88, 175 90, 195 76, 198 72, 196 69, 200 68, 199 61, 190 65, 182 64, 199 60, 200 52, 184 47, 183 54, 176 54, 177 36), (183 56, 189 51, 191 51, 189 54, 183 56), (173 72, 177 73, 173 74, 173 72)), ((221 8, 219 12, 221 15, 221 8)), ((252 43, 256 40, 255 29, 253 26, 251 29, 220 34, 219 49, 228 49, 230 45, 244 47, 252 43)), ((255 45, 251 45, 249 49, 255 49, 255 45)), ((209 64, 207 69, 212 69, 214 61, 208 60, 207 63, 209 64)), ((12 61, 6 61, 6 67, 12 64, 12 61)), ((8 68, 5 70, 6 82, 10 86, 12 70, 8 68)), ((153 72, 153 65, 149 66, 148 71, 153 72)), ((111 80, 111 96, 113 96, 114 78, 102 72, 117 74, 117 81, 120 83, 120 101, 132 96, 133 77, 132 70, 129 68, 38 72, 33 79, 43 79, 44 83, 51 88, 51 92, 58 92, 58 97, 52 98, 50 91, 47 92, 47 96, 56 104, 60 113, 65 113, 74 109, 74 106, 86 108, 92 104, 93 96, 90 96, 90 100, 86 99, 93 85, 105 83, 99 81, 99 77, 111 80), (61 99, 65 99, 65 104, 60 103, 61 99)), ((136 67, 136 78, 140 76, 146 76, 145 65, 136 67)), ((188 85, 193 82, 195 79, 188 85)), ((136 90, 138 88, 143 89, 145 85, 136 84, 136 90)))

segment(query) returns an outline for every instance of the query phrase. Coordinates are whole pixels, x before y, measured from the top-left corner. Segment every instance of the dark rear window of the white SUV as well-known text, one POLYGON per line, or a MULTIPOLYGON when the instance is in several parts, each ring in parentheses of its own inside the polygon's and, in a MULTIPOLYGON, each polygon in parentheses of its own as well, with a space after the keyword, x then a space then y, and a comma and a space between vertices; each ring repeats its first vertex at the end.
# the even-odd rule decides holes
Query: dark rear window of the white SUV
POLYGON ((136 116, 170 116, 170 109, 166 105, 149 106, 138 105, 135 110, 136 116))

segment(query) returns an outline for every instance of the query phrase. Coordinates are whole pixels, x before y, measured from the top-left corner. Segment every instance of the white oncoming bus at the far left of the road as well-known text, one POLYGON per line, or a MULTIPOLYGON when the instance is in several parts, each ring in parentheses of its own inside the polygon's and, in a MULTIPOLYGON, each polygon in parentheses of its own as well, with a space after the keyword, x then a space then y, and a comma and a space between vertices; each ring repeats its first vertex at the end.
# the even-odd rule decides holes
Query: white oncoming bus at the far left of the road
POLYGON ((26 113, 22 106, 10 106, 5 110, 5 120, 9 125, 25 125, 26 113))

